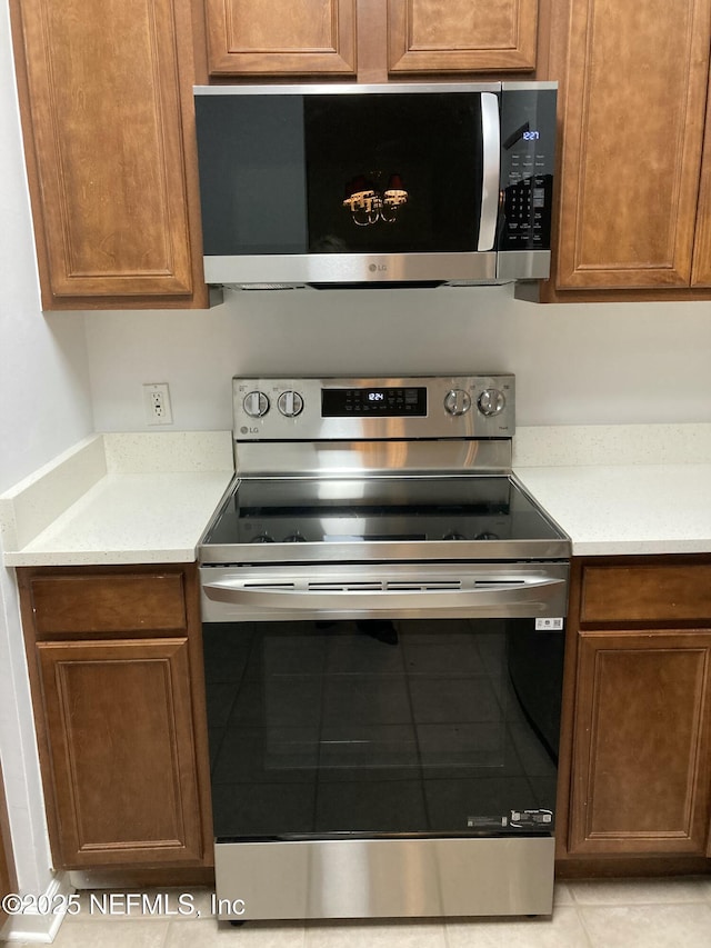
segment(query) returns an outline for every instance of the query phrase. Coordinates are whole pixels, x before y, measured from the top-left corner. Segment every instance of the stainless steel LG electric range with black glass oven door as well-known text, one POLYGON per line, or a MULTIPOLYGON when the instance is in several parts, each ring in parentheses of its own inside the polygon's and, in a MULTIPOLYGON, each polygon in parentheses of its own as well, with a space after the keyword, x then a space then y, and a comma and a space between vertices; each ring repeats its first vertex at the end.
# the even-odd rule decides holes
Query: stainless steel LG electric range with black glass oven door
POLYGON ((219 917, 552 910, 570 541, 514 378, 233 380, 200 546, 219 917))

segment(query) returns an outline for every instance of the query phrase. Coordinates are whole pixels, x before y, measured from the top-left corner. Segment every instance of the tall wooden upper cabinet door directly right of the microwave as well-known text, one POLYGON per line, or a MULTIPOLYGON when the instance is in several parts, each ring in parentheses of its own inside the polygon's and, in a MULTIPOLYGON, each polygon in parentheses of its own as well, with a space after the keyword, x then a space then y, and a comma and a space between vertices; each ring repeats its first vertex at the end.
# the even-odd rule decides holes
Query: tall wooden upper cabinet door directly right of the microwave
POLYGON ((710 0, 563 0, 557 286, 689 287, 710 0))

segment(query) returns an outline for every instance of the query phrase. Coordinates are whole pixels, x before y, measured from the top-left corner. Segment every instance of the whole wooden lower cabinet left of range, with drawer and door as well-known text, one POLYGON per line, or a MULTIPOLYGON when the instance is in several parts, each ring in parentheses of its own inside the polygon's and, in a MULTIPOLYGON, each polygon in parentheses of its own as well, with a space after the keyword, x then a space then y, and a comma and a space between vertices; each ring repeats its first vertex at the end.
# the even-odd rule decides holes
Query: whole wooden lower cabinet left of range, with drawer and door
POLYGON ((194 569, 19 573, 57 865, 209 865, 194 569))

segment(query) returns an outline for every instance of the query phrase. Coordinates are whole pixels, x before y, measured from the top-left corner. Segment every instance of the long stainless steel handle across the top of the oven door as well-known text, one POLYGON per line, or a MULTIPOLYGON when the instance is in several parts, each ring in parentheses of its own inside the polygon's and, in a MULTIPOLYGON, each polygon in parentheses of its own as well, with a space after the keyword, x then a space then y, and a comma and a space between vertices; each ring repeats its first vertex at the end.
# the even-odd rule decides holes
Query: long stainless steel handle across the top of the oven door
MULTIPOLYGON (((358 608, 362 600, 370 600, 378 610, 399 611, 404 609, 444 609, 451 607, 480 608, 484 605, 530 605, 565 587, 565 580, 545 576, 488 576, 472 580, 467 586, 449 586, 445 581, 393 580, 338 582, 313 580, 297 587, 288 583, 246 582, 240 578, 223 578, 203 583, 208 599, 232 606, 263 607, 269 609, 314 610, 358 608)), ((362 602, 364 606, 365 603, 362 602)))

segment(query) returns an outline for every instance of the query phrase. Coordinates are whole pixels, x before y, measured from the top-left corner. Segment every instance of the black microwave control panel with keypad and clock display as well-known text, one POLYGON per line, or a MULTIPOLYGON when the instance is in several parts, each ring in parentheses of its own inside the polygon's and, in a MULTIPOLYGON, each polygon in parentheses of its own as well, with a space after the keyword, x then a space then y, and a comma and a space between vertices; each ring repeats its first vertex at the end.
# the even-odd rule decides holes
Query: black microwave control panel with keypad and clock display
POLYGON ((555 89, 504 83, 499 250, 550 250, 555 89))

